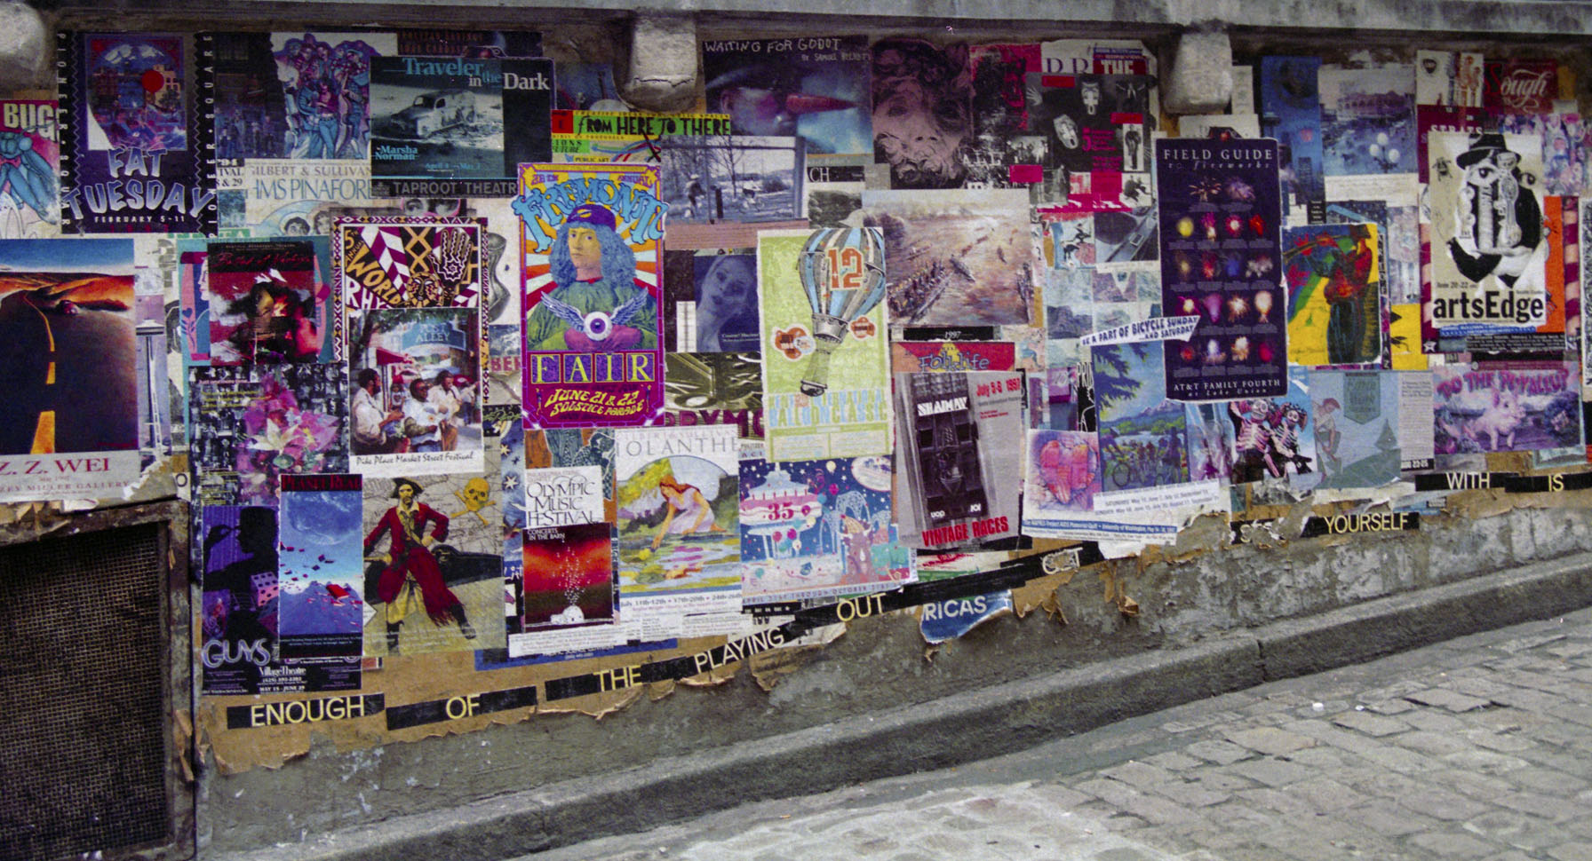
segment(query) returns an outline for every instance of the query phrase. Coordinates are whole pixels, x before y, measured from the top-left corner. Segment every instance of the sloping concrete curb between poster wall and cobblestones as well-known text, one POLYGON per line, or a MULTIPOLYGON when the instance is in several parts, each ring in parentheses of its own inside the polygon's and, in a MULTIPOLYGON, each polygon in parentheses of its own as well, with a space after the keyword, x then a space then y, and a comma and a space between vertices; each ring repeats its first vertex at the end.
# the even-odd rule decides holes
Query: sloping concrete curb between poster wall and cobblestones
POLYGON ((745 802, 942 769, 1057 735, 1592 605, 1592 554, 1375 598, 213 861, 497 861, 745 802), (957 738, 946 745, 944 738, 957 738))

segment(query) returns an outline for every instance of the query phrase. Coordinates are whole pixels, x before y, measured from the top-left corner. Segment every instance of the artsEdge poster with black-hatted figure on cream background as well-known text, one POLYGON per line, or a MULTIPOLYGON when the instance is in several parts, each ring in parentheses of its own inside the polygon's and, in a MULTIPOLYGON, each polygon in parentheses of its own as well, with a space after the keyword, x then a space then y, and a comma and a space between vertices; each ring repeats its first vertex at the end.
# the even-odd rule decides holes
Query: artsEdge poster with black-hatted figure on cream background
POLYGON ((1541 151, 1538 137, 1428 137, 1431 275, 1423 342, 1532 333, 1547 323, 1541 151))

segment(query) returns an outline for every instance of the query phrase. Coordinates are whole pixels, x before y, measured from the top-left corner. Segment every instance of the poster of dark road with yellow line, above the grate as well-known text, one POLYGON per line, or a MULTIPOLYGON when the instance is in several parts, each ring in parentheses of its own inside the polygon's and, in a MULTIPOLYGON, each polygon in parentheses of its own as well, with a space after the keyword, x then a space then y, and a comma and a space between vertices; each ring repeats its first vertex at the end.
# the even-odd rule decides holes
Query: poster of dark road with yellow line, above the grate
POLYGON ((118 497, 139 476, 132 245, 0 242, 0 501, 118 497))

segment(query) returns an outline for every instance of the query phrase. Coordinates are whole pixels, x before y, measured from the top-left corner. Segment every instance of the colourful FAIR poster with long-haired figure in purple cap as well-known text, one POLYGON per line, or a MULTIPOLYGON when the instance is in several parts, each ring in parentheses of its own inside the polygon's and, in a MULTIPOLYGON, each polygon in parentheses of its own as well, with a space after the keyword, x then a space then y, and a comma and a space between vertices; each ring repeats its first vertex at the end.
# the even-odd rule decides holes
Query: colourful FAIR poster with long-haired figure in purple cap
POLYGON ((527 164, 513 201, 524 253, 527 428, 635 427, 664 409, 657 169, 527 164))

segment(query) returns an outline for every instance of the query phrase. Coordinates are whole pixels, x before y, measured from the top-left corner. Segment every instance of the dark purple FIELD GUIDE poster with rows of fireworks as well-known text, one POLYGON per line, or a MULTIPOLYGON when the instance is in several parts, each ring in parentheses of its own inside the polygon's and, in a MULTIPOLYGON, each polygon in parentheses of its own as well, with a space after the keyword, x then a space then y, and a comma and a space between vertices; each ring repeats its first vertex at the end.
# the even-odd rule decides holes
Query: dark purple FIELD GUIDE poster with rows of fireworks
POLYGON ((1167 341, 1167 398, 1288 393, 1275 140, 1157 140, 1161 294, 1167 317, 1199 315, 1167 341))

